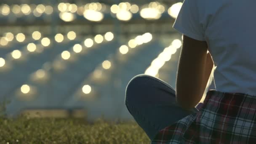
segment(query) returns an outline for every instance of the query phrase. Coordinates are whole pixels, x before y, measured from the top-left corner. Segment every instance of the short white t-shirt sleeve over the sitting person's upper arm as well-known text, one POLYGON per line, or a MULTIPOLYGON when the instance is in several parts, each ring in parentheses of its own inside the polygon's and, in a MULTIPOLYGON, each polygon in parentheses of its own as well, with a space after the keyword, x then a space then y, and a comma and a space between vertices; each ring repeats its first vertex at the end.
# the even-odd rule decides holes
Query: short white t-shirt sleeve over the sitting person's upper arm
POLYGON ((184 0, 173 28, 195 40, 205 41, 197 0, 184 0))

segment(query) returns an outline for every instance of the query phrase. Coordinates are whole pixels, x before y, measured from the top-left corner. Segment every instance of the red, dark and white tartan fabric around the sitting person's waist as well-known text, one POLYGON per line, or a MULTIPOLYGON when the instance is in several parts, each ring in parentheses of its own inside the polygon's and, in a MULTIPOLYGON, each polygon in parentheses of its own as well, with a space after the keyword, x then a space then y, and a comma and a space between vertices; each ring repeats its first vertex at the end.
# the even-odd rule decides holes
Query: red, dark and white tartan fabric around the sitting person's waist
POLYGON ((152 144, 256 144, 256 96, 208 91, 198 112, 160 130, 152 144))

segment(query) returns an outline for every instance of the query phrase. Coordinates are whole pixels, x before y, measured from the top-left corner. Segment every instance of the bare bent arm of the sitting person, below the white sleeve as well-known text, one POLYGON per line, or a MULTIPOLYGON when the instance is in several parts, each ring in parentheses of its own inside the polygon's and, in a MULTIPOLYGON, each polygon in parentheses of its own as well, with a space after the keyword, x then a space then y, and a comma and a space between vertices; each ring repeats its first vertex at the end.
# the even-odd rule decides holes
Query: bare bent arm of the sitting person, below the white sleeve
POLYGON ((192 109, 201 100, 213 68, 208 45, 183 36, 176 79, 176 101, 183 109, 192 109))

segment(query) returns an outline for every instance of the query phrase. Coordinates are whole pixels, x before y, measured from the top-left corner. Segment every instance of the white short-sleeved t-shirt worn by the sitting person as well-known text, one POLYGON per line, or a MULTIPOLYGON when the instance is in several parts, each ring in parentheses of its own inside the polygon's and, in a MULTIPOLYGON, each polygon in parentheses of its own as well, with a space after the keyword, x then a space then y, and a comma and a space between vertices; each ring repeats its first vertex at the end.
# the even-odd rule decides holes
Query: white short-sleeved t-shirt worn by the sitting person
POLYGON ((256 0, 184 0, 174 29, 206 41, 216 91, 256 96, 256 0))

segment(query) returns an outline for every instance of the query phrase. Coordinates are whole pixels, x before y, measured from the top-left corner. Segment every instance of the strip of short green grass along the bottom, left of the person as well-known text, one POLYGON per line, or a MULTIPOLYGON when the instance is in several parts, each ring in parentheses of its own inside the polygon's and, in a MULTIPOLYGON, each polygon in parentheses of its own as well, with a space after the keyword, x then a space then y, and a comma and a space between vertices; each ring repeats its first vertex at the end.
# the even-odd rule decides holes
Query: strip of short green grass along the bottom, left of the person
POLYGON ((0 118, 0 144, 149 144, 135 122, 84 119, 0 118))

